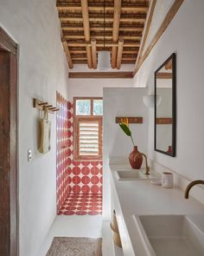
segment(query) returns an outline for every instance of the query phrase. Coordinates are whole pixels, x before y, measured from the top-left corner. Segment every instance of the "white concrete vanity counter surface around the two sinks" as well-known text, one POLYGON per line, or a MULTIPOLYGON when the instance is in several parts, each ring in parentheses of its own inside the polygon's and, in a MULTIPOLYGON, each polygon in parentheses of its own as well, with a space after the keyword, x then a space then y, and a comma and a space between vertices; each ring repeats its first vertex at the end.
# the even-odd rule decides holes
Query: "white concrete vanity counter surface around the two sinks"
MULTIPOLYGON (((124 256, 150 256, 143 247, 134 215, 201 215, 204 222, 204 205, 191 196, 184 199, 178 188, 163 188, 150 181, 118 181, 116 171, 131 169, 122 165, 110 165, 112 187, 112 207, 116 209, 118 228, 122 240, 124 256)), ((137 171, 137 170, 132 170, 137 171)), ((193 188, 194 189, 194 188, 193 188)), ((199 217, 199 216, 197 216, 199 217)), ((196 218, 195 218, 196 219, 196 218)), ((202 226, 204 232, 204 226, 202 226)), ((167 254, 169 255, 169 254, 167 254)), ((163 255, 165 256, 165 255, 163 255)))

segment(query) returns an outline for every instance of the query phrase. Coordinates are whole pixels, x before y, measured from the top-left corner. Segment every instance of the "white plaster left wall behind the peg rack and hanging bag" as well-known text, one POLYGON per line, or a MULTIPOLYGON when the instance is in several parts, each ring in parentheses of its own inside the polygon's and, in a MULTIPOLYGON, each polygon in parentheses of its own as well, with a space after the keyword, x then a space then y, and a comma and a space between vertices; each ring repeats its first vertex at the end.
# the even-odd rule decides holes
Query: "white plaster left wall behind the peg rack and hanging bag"
POLYGON ((55 115, 51 151, 39 154, 32 98, 55 104, 56 90, 67 97, 67 62, 54 0, 0 0, 0 25, 19 44, 20 256, 37 256, 56 213, 55 115))

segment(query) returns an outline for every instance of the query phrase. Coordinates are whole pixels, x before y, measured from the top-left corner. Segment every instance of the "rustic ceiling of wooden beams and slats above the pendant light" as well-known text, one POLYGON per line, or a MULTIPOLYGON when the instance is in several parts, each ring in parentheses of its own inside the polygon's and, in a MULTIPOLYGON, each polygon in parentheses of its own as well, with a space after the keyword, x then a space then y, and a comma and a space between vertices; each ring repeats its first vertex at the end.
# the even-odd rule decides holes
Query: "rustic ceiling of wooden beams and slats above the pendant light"
POLYGON ((136 62, 149 0, 105 0, 105 47, 103 0, 56 2, 69 62, 97 69, 97 54, 103 49, 112 54, 112 68, 136 62))

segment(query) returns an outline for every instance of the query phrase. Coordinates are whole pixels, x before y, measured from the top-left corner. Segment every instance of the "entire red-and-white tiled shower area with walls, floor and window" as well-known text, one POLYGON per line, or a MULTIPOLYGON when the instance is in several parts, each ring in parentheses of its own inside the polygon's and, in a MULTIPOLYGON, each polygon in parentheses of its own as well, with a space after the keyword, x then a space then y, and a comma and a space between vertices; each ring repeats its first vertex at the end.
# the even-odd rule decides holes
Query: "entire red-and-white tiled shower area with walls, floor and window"
POLYGON ((56 205, 59 215, 102 213, 101 98, 74 98, 59 92, 56 105, 56 205))

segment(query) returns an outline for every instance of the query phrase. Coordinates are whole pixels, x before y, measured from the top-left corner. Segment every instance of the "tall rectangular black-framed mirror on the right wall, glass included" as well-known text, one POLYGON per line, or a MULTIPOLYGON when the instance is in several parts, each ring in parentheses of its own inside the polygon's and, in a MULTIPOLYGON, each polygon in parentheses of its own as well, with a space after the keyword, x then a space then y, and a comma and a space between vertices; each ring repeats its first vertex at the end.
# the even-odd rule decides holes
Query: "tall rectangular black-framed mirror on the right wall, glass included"
POLYGON ((175 53, 155 72, 155 150, 175 156, 175 53))

